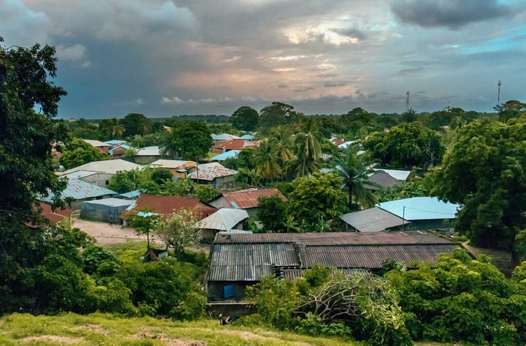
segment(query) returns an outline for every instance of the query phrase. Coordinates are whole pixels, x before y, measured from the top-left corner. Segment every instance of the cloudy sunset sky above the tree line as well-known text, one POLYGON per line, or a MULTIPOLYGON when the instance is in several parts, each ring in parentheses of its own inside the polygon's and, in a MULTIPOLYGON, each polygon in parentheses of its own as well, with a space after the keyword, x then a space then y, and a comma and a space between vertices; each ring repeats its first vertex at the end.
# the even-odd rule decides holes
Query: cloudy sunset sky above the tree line
POLYGON ((0 0, 0 36, 56 47, 62 118, 526 101, 526 0, 0 0))

